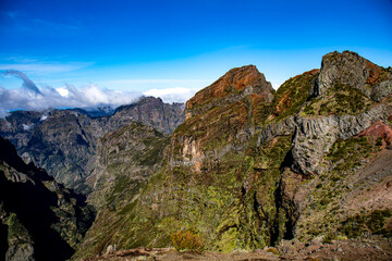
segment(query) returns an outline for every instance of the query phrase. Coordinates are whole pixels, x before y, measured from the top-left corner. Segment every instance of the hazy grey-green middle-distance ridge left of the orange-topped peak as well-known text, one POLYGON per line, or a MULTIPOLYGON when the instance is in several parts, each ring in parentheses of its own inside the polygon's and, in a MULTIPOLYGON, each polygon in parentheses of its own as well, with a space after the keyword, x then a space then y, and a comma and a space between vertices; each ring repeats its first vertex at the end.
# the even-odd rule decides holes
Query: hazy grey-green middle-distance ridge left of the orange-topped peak
POLYGON ((168 137, 139 123, 101 137, 95 170, 87 181, 93 188, 89 202, 100 210, 119 208, 125 196, 132 199, 157 171, 167 144, 168 137))

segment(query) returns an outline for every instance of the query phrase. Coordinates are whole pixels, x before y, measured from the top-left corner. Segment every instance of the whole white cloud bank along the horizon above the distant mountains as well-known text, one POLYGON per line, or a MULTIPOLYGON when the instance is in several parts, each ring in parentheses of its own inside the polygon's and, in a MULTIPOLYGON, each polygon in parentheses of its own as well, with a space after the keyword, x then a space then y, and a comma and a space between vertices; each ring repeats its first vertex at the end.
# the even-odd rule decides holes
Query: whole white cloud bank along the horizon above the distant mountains
POLYGON ((22 79, 17 89, 7 89, 0 86, 0 116, 12 110, 41 111, 50 108, 82 108, 95 109, 110 105, 117 108, 122 104, 136 102, 142 96, 160 97, 164 102, 185 102, 197 89, 167 88, 150 89, 145 92, 113 90, 89 84, 82 88, 65 84, 54 88, 45 86, 38 88, 24 73, 16 70, 0 71, 2 76, 14 76, 22 79))

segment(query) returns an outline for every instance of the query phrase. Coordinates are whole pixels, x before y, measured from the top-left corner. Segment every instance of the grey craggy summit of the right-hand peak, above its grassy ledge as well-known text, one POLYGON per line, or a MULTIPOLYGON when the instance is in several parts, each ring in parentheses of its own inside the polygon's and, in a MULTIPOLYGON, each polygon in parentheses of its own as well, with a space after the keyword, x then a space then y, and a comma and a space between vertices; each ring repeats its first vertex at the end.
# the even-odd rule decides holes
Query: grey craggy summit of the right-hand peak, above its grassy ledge
POLYGON ((336 84, 347 85, 380 101, 392 91, 392 73, 352 51, 334 51, 321 62, 316 95, 324 95, 336 84))

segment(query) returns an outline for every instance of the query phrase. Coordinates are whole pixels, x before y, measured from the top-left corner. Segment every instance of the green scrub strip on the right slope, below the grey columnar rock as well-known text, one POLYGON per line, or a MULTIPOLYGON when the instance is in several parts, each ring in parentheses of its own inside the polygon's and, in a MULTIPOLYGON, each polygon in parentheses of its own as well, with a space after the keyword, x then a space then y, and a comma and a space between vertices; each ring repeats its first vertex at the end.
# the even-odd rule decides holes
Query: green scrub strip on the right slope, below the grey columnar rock
POLYGON ((366 164, 365 159, 370 160, 378 151, 376 140, 368 137, 339 139, 333 144, 324 156, 332 167, 311 181, 315 186, 310 192, 311 201, 297 224, 297 234, 302 240, 319 235, 327 236, 327 241, 332 235, 333 238, 346 236, 335 232, 345 219, 341 201, 351 191, 347 181, 358 167, 366 164))

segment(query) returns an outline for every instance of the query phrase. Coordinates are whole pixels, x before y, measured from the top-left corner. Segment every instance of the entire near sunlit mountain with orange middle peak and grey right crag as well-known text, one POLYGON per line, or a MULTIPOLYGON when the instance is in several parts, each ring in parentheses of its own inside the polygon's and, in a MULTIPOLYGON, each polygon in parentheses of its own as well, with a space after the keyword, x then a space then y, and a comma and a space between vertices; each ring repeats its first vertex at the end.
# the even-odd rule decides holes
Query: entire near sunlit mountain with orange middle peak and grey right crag
MULTIPOLYGON (((324 55, 320 70, 277 91, 253 65, 229 71, 187 101, 185 122, 143 188, 121 188, 115 175, 128 160, 110 149, 123 171, 101 175, 101 184, 118 196, 103 196, 74 258, 122 260, 115 249, 174 247, 328 259, 346 246, 351 257, 391 259, 391 69, 350 51, 324 55), (363 245, 380 251, 355 256, 363 245)), ((124 147, 127 135, 105 142, 124 147)))

